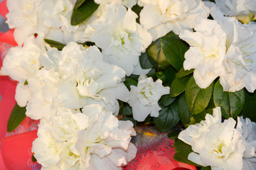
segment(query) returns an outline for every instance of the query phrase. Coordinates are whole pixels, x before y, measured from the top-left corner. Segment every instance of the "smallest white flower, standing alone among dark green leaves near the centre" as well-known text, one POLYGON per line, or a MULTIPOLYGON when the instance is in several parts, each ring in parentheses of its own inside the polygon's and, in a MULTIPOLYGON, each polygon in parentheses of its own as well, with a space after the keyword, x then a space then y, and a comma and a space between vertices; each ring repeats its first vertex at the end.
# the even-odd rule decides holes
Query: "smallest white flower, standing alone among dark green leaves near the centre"
POLYGON ((137 86, 131 86, 129 92, 129 106, 132 107, 133 118, 137 121, 144 121, 149 114, 153 117, 159 116, 158 101, 164 94, 169 94, 169 87, 164 87, 162 81, 156 82, 151 77, 147 78, 144 74, 139 77, 137 86))

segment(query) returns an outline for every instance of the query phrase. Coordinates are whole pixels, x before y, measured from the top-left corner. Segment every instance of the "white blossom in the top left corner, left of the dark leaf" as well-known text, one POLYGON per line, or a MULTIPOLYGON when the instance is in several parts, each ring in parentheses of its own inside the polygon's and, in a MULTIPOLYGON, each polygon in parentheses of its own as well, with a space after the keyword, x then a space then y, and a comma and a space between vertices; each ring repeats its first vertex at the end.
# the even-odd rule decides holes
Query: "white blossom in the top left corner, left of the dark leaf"
POLYGON ((35 33, 68 43, 73 41, 73 33, 78 28, 70 25, 74 4, 75 0, 8 0, 7 23, 9 28, 15 28, 18 45, 35 33))

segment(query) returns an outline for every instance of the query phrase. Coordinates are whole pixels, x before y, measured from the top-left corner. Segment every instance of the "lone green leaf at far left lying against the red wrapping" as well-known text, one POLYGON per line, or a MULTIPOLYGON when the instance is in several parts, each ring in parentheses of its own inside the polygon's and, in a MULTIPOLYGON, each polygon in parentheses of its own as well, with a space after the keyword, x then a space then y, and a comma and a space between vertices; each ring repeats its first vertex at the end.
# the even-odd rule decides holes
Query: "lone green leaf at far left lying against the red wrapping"
POLYGON ((26 113, 26 107, 21 108, 16 103, 13 110, 11 111, 11 115, 7 123, 7 132, 11 132, 15 130, 15 128, 17 128, 18 125, 21 124, 24 118, 26 118, 25 113, 26 113))

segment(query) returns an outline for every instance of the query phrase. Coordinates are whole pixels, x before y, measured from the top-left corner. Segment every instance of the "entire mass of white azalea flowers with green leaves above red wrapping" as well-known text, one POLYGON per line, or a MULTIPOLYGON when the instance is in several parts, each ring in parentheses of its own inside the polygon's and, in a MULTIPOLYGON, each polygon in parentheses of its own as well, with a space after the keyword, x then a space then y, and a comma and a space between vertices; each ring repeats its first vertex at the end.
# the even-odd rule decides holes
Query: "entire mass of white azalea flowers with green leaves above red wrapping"
POLYGON ((19 119, 8 130, 25 115, 40 120, 32 152, 42 169, 122 169, 138 124, 178 127, 169 137, 179 162, 256 169, 255 0, 7 7, 18 46, 1 74, 18 81, 10 120, 19 119))

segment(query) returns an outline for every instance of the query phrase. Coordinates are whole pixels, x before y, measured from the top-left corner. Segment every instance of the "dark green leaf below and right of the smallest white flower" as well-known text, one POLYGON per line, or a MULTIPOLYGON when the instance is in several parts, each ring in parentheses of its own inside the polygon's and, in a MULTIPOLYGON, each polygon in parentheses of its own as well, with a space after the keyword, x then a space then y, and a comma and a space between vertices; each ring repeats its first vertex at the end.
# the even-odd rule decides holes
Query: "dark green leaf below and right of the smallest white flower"
POLYGON ((178 101, 174 101, 169 107, 161 108, 159 117, 154 118, 156 128, 161 132, 167 132, 178 123, 178 101))

